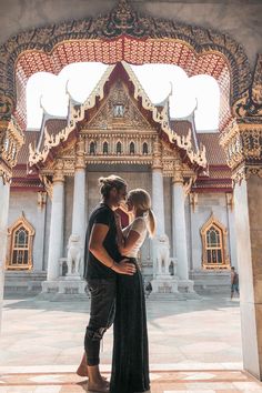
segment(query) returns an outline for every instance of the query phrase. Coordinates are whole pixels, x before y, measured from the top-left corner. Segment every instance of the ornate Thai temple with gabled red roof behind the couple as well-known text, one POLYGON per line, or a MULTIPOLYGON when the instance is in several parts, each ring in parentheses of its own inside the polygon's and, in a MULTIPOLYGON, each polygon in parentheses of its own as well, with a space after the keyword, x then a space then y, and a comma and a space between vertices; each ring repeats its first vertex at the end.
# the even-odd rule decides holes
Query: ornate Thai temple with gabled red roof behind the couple
MULTIPOLYGON (((83 292, 87 221, 99 177, 112 173, 152 196, 158 231, 139 263, 155 292, 229 290, 233 189, 219 132, 196 132, 193 117, 172 120, 169 98, 151 102, 128 63, 109 66, 84 103, 70 98, 67 119, 46 115, 24 139, 10 190, 7 292, 83 292), (80 266, 69 274, 72 241, 80 266)), ((119 212, 127 225, 124 205, 119 212)))

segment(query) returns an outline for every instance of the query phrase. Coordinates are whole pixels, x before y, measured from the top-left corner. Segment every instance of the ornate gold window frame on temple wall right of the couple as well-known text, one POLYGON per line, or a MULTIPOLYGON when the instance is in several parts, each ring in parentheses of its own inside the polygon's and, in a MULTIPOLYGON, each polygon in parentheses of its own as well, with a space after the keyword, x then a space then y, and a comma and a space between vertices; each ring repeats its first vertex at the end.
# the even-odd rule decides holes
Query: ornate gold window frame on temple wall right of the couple
POLYGON ((214 214, 211 214, 210 219, 204 223, 204 225, 200 230, 201 238, 202 238, 202 268, 204 270, 228 270, 230 269, 230 258, 228 254, 226 248, 226 236, 228 230, 226 228, 215 219, 214 214), (221 258, 222 263, 209 263, 208 262, 208 241, 206 241, 206 233, 211 226, 218 229, 221 233, 221 248, 216 248, 221 250, 221 258))

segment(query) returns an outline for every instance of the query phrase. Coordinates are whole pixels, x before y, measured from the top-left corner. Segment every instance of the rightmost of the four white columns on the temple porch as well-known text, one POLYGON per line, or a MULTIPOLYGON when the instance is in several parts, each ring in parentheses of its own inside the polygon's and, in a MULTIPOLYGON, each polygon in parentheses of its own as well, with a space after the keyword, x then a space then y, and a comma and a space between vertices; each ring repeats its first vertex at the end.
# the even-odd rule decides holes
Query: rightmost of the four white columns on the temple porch
POLYGON ((175 177, 172 183, 173 250, 178 260, 179 278, 189 280, 183 182, 175 177))

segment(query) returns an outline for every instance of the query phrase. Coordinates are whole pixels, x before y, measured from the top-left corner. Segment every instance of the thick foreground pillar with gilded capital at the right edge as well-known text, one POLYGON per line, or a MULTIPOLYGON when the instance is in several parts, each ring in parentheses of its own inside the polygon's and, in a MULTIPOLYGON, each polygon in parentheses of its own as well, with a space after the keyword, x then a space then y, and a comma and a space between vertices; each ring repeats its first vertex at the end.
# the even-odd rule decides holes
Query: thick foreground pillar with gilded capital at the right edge
POLYGON ((234 182, 243 366, 262 380, 262 122, 251 120, 234 119, 221 144, 234 182))

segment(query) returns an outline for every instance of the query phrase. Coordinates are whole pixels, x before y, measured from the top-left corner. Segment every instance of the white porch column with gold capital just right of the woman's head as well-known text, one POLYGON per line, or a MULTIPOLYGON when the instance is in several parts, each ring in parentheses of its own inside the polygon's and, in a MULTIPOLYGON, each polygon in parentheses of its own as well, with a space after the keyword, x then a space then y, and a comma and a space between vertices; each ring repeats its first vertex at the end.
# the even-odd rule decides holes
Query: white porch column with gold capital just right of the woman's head
POLYGON ((161 161, 161 144, 154 142, 152 165, 152 208, 157 218, 157 235, 163 235, 164 231, 164 195, 163 195, 163 170, 161 161))

